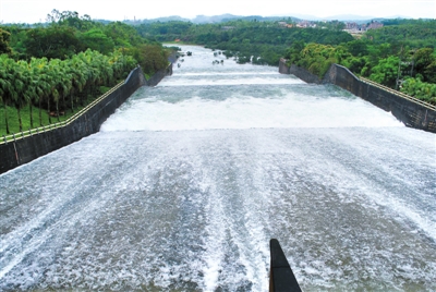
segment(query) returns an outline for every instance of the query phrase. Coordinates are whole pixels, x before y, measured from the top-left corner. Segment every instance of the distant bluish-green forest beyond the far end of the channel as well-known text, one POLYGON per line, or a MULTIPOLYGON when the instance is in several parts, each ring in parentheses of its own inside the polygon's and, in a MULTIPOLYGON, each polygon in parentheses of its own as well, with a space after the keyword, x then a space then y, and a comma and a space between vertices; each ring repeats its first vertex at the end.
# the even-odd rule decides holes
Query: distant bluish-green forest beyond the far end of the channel
MULTIPOLYGON (((282 20, 292 24, 293 21, 282 20)), ((234 57, 239 63, 278 65, 280 57, 294 41, 316 41, 334 45, 352 40, 352 36, 338 31, 324 28, 284 27, 278 21, 259 22, 233 20, 219 24, 192 24, 186 22, 167 22, 141 24, 137 32, 145 37, 159 41, 175 39, 187 44, 204 45, 211 49, 226 50, 228 58, 234 57)))

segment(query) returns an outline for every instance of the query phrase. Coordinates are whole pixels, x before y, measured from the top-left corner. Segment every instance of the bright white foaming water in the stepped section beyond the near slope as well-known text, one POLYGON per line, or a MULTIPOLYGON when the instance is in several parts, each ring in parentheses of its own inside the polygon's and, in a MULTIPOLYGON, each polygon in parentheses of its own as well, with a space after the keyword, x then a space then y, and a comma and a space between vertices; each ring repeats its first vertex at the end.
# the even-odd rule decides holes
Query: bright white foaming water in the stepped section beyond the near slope
POLYGON ((101 131, 403 126, 336 86, 308 85, 277 68, 226 63, 208 66, 230 66, 227 74, 185 73, 189 64, 157 87, 140 89, 101 131))

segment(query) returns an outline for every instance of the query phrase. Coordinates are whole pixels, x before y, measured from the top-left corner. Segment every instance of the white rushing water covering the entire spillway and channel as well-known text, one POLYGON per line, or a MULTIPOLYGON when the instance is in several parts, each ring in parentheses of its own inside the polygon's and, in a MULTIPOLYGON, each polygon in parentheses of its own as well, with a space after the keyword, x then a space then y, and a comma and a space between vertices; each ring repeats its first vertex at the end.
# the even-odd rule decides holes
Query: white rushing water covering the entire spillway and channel
POLYGON ((436 139, 183 47, 98 134, 0 175, 0 290, 436 290, 436 139))

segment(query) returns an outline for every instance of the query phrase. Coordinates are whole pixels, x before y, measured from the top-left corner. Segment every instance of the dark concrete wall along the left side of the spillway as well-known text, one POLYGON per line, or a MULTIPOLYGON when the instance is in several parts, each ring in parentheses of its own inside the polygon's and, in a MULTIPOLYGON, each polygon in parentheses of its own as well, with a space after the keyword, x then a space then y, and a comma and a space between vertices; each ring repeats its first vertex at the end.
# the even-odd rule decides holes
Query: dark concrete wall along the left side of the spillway
POLYGON ((0 174, 98 132, 108 117, 137 88, 143 85, 155 86, 168 74, 172 74, 171 65, 146 81, 141 68, 136 68, 124 84, 70 124, 24 138, 17 136, 14 142, 1 143, 0 174))

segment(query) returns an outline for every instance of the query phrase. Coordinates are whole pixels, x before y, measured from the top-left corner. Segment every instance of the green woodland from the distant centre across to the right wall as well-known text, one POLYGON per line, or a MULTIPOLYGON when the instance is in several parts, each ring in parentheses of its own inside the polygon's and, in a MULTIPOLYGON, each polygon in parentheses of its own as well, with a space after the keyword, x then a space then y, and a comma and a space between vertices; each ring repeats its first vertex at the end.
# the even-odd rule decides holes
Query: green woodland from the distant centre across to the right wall
POLYGON ((338 63, 356 75, 436 102, 436 21, 389 20, 360 39, 342 32, 344 24, 340 22, 312 24, 316 28, 296 27, 292 19, 252 17, 202 25, 156 22, 136 26, 136 31, 159 41, 178 39, 223 50, 226 57, 239 63, 278 65, 280 57, 284 57, 319 77, 338 63))

